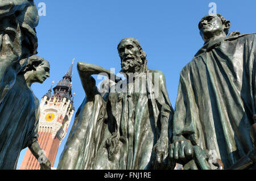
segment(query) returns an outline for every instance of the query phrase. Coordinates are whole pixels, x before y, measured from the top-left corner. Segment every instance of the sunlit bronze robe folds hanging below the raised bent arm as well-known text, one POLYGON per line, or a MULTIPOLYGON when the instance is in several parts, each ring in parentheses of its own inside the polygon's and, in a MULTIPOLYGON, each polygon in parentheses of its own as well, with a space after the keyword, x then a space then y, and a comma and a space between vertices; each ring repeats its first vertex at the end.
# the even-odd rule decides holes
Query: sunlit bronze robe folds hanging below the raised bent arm
MULTIPOLYGON (((60 155, 58 170, 85 170, 96 156, 106 128, 106 103, 100 94, 93 101, 86 98, 77 110, 74 124, 64 150, 60 155)), ((110 134, 111 135, 111 134, 110 134)))

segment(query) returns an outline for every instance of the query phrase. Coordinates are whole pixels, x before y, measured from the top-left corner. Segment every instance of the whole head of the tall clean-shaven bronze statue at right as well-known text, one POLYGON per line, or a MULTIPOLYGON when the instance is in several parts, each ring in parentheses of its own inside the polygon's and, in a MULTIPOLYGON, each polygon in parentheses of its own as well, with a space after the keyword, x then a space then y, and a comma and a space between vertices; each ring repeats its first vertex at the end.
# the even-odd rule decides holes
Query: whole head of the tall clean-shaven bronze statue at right
POLYGON ((209 14, 199 22, 200 35, 204 41, 216 37, 225 37, 229 33, 230 21, 220 14, 209 14))

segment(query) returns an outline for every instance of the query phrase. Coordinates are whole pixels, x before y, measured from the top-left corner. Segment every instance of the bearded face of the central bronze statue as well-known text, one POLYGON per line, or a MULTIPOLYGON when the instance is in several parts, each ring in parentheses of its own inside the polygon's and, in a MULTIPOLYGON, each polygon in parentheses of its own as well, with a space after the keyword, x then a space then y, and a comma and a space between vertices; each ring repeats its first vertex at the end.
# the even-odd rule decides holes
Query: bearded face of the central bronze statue
POLYGON ((132 40, 123 40, 118 47, 122 70, 125 73, 135 73, 142 66, 141 51, 132 40))

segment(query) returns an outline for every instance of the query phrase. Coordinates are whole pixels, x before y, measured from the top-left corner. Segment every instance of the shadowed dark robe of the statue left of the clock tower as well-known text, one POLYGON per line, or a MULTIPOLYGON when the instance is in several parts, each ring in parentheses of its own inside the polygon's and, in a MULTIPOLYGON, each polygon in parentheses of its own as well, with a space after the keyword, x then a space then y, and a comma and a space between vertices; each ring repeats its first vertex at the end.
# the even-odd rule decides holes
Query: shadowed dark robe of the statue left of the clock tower
POLYGON ((0 106, 0 169, 16 169, 19 153, 38 138, 39 101, 18 75, 0 106))

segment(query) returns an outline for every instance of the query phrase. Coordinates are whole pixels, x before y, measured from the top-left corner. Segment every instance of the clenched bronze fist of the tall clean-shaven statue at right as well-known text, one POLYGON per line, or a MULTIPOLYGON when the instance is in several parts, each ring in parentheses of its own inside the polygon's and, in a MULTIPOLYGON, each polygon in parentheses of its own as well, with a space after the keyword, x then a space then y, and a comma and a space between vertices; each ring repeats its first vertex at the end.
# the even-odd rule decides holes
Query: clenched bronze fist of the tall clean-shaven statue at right
POLYGON ((191 141, 181 139, 169 146, 169 157, 172 162, 185 165, 193 158, 193 145, 191 141))

